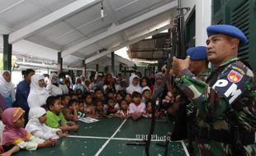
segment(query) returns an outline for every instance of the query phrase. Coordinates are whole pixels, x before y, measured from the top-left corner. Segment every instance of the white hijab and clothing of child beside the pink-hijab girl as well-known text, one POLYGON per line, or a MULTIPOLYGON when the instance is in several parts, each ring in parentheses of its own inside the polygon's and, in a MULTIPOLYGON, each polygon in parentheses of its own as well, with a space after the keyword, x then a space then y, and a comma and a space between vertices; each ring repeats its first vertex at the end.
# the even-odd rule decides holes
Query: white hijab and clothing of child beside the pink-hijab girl
POLYGON ((55 133, 56 131, 60 131, 59 129, 52 129, 49 126, 40 123, 39 117, 45 115, 45 113, 45 108, 31 108, 28 114, 29 122, 27 122, 25 130, 28 133, 33 133, 33 131, 44 131, 44 136, 37 136, 40 137, 40 139, 44 140, 47 140, 49 138, 59 138, 59 136, 55 133))

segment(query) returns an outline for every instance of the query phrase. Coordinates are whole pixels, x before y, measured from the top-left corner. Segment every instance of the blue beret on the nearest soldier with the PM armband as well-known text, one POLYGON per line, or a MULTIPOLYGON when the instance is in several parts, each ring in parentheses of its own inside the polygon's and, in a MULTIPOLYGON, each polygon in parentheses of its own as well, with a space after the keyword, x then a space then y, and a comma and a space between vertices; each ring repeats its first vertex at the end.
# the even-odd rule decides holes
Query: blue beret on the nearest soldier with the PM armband
POLYGON ((212 34, 225 34, 239 39, 241 44, 246 44, 248 42, 244 33, 232 25, 211 25, 208 26, 206 30, 208 36, 211 36, 212 34))

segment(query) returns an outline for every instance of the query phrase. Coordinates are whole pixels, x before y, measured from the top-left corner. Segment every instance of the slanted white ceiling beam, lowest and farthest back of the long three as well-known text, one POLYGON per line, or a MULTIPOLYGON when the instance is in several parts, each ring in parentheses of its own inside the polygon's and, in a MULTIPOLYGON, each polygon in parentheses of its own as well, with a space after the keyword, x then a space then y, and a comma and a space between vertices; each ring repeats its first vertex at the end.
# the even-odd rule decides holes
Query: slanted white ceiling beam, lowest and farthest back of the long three
POLYGON ((105 55, 107 55, 111 52, 115 52, 116 50, 118 50, 120 48, 124 48, 124 47, 126 47, 130 44, 135 44, 135 43, 139 42, 140 40, 145 39, 145 38, 147 38, 149 36, 152 36, 154 34, 159 34, 161 31, 168 30, 172 26, 173 26, 173 24, 168 24, 168 25, 165 25, 165 26, 159 28, 158 30, 153 30, 153 31, 149 32, 148 34, 143 34, 138 38, 132 39, 130 41, 123 42, 123 43, 119 44, 118 46, 116 46, 114 48, 108 49, 105 52, 98 53, 97 55, 95 55, 93 57, 89 57, 88 59, 85 60, 85 63, 87 64, 89 62, 93 62, 94 60, 97 60, 100 57, 104 57, 105 55))

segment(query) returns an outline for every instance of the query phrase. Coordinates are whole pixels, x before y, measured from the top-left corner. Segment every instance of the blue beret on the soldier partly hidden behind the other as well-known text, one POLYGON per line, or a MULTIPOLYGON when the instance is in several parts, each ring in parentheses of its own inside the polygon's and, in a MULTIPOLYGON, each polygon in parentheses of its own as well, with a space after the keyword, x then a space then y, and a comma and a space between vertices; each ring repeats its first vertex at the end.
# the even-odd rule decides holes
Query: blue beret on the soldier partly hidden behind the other
POLYGON ((194 61, 207 59, 207 53, 206 53, 205 46, 197 46, 197 47, 187 48, 186 53, 187 53, 187 56, 190 56, 190 59, 194 60, 194 61))

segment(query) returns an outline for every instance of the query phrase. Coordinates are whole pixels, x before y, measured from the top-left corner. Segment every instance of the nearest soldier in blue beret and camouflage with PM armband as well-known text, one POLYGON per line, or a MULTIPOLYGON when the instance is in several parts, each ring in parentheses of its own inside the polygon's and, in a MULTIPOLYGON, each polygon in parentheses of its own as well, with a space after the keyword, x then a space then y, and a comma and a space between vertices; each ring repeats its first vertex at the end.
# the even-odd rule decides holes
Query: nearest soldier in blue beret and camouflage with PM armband
POLYGON ((173 57, 178 87, 197 107, 192 155, 256 155, 256 77, 237 58, 248 41, 231 25, 207 28, 207 57, 215 70, 206 82, 188 70, 189 57, 173 57))

